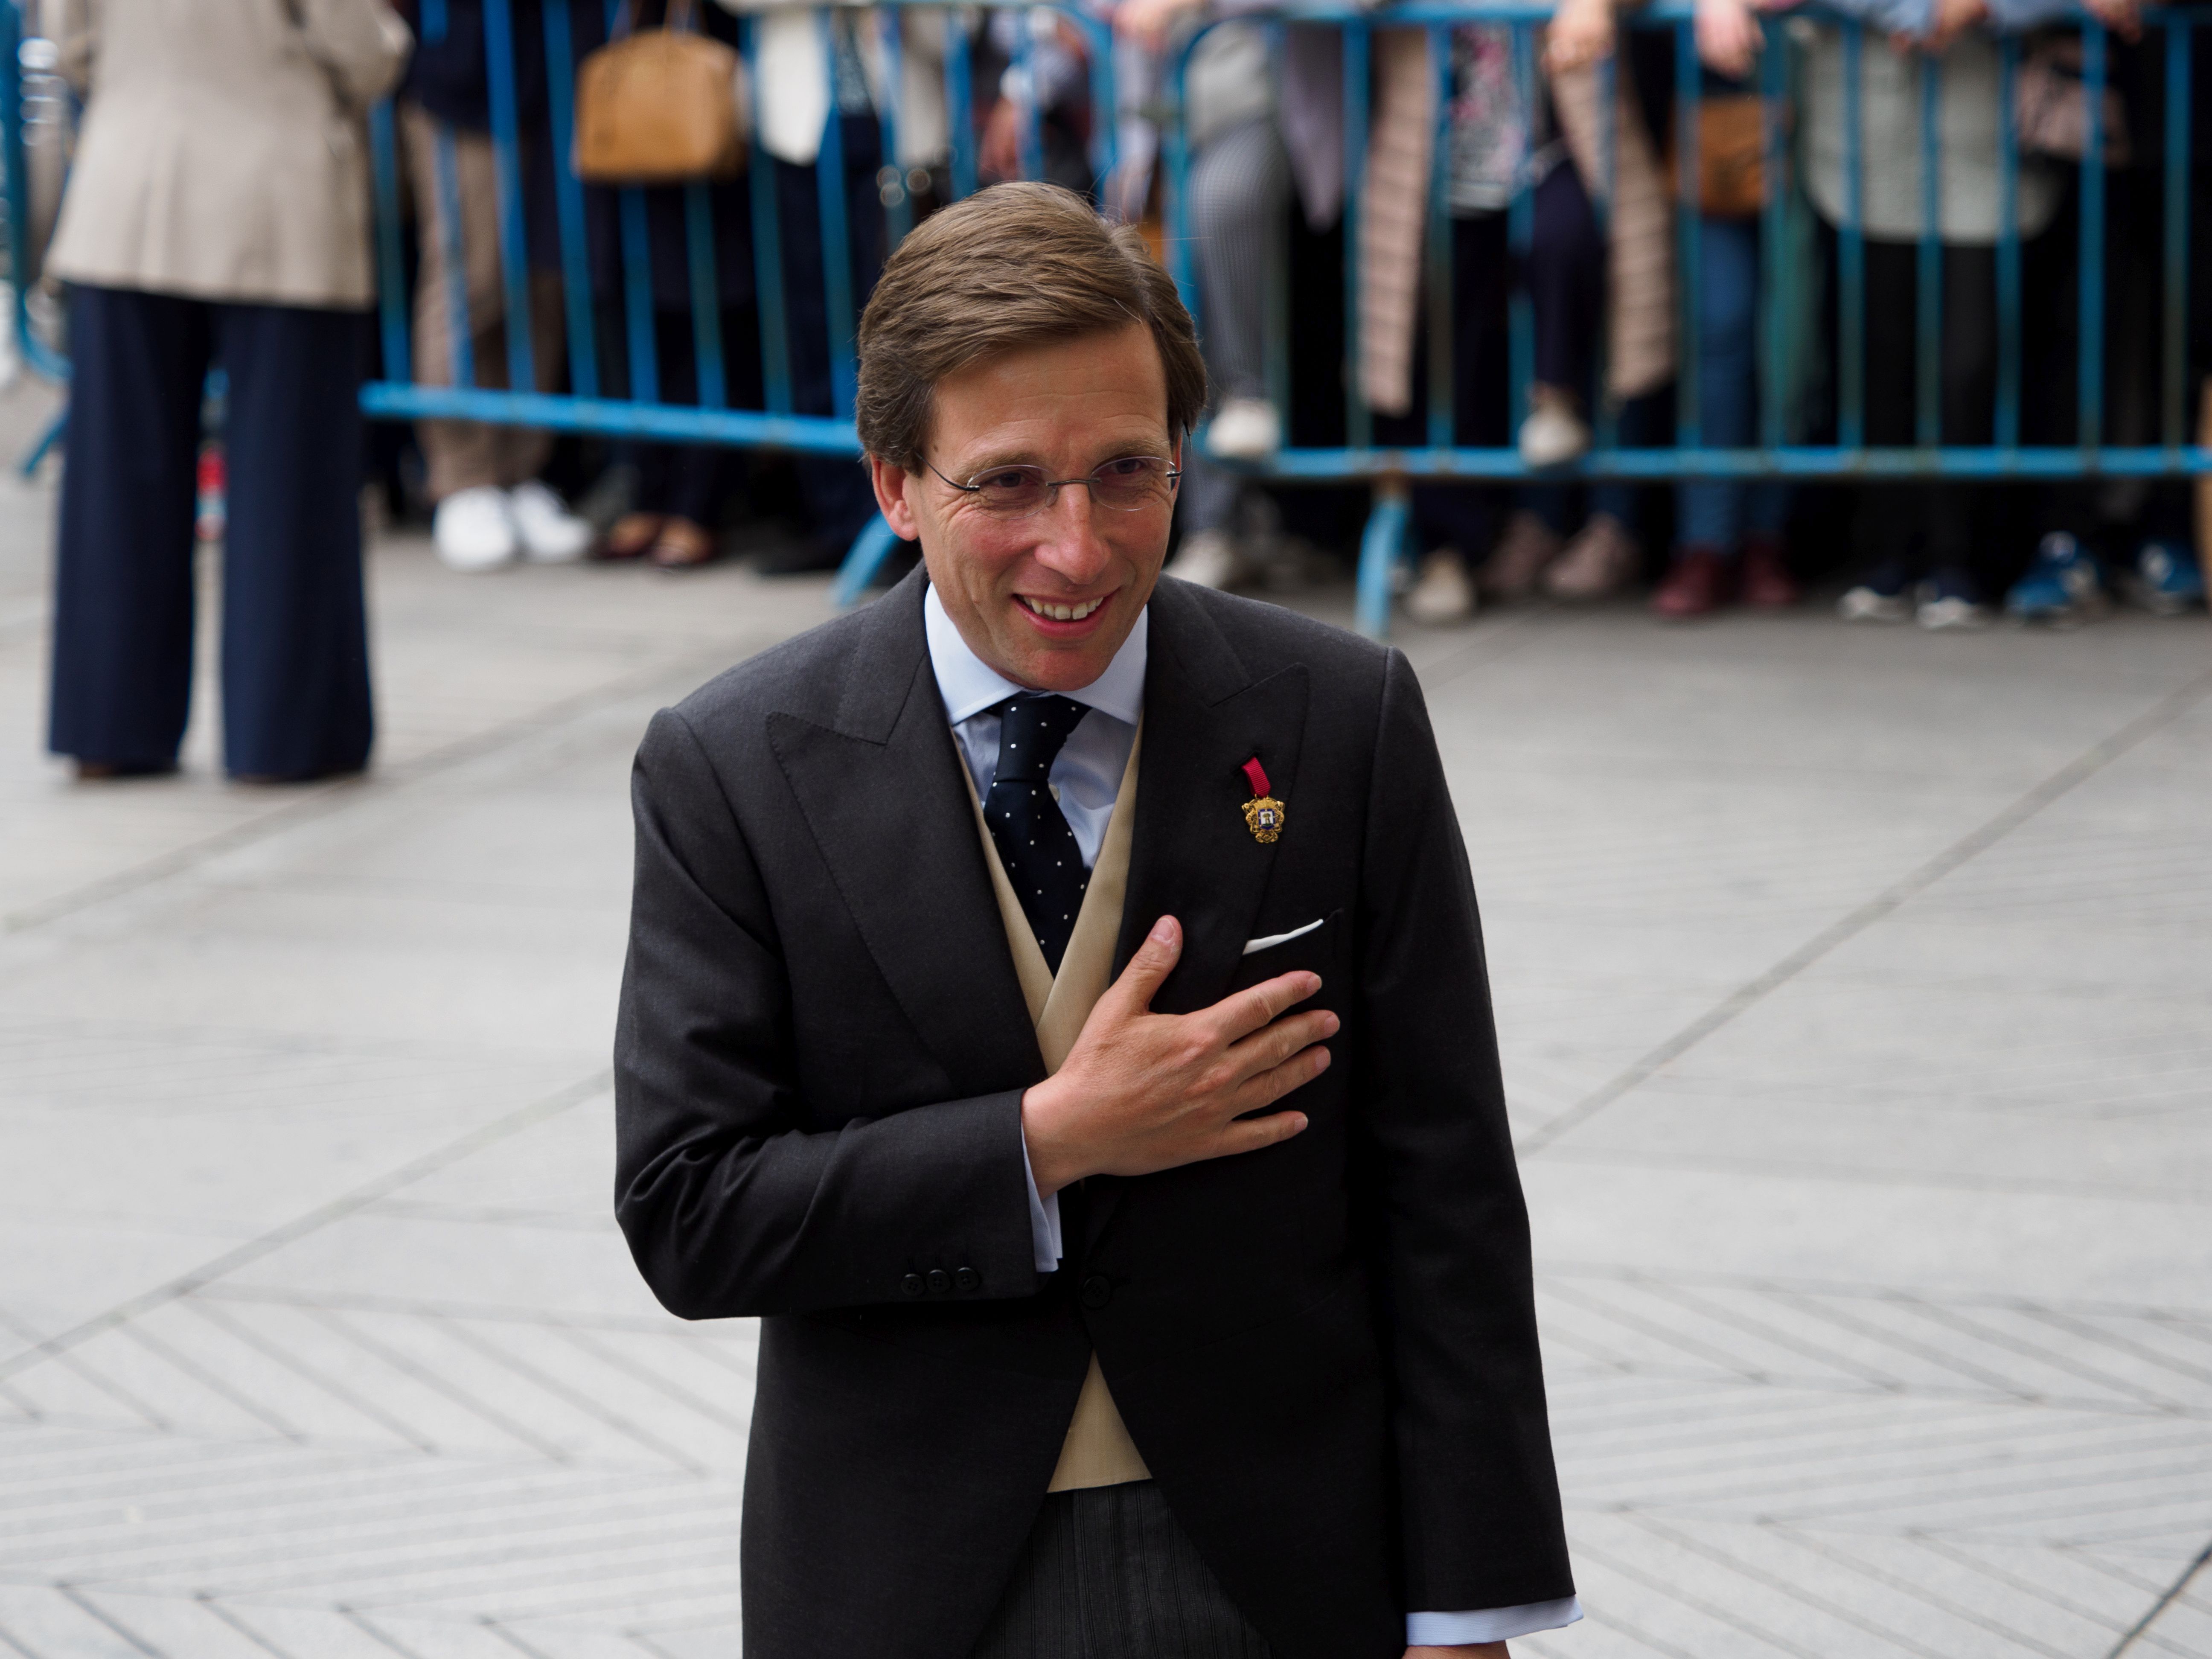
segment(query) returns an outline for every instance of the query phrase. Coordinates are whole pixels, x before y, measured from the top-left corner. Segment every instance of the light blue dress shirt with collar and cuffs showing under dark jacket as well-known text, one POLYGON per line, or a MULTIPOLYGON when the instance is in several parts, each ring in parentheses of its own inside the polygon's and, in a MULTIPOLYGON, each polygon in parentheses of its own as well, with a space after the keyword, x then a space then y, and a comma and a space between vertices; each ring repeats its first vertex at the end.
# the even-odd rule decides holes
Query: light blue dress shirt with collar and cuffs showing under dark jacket
MULTIPOLYGON (((1137 626, 1128 630, 1128 639, 1106 664, 1106 672, 1082 690, 1064 692, 1091 712, 1068 734, 1046 776, 1068 830, 1075 832, 1075 845, 1082 849, 1086 867, 1097 863, 1099 845, 1106 841, 1106 821, 1113 816, 1113 801, 1121 790, 1121 772, 1128 768, 1128 750, 1137 741, 1150 619, 1150 611, 1139 613, 1137 626)), ((967 761, 969 776, 975 781, 975 799, 982 801, 991 794, 991 779, 998 776, 995 710, 1029 688, 1015 686, 969 650, 933 586, 922 597, 922 630, 929 639, 929 666, 938 677, 938 697, 945 699, 945 719, 951 721, 960 759, 967 761)), ((1026 1144, 1022 1146, 1022 1168, 1029 1168, 1026 1144)), ((1037 1254, 1037 1272, 1057 1272, 1060 1259, 1066 1254, 1060 1234, 1060 1194, 1040 1199, 1035 1175, 1029 1177, 1029 1234, 1037 1254)), ((1407 1646, 1433 1644, 1438 1648, 1462 1641, 1509 1641, 1535 1630, 1557 1630, 1579 1617, 1582 1601, 1575 1597, 1471 1613, 1409 1613, 1405 1639, 1407 1646)))

